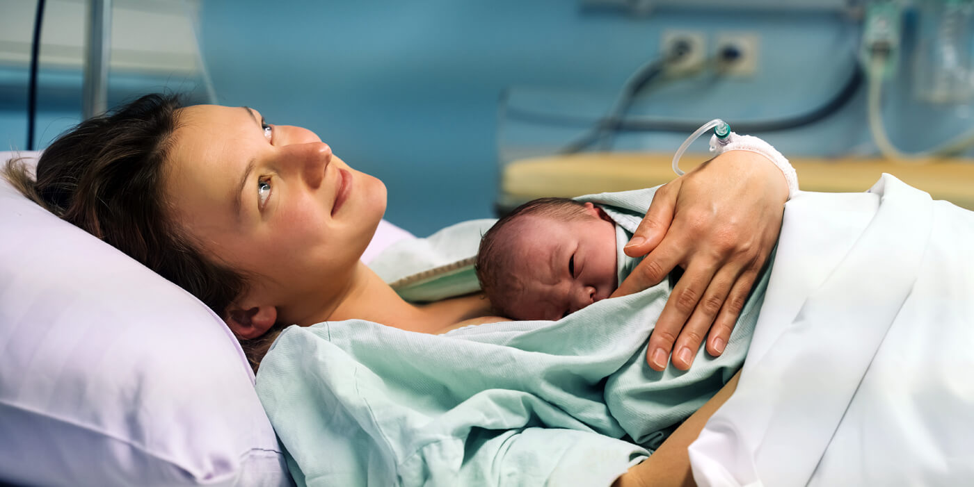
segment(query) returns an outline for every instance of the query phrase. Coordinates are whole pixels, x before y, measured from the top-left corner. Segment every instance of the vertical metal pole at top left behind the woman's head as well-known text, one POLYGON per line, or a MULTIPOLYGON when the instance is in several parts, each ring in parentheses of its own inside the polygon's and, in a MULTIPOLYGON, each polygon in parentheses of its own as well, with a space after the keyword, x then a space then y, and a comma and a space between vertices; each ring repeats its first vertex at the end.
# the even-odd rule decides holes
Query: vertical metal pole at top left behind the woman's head
POLYGON ((108 59, 112 45, 112 1, 88 2, 88 49, 82 115, 90 119, 108 110, 108 59))

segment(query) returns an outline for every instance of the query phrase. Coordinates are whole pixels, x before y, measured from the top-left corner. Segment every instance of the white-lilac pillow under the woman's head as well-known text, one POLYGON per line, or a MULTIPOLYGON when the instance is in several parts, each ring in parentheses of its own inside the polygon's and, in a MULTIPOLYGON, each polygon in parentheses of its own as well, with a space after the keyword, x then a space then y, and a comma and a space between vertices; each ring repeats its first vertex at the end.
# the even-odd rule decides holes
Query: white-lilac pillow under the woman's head
POLYGON ((0 480, 291 483, 206 305, 2 178, 0 228, 0 480))

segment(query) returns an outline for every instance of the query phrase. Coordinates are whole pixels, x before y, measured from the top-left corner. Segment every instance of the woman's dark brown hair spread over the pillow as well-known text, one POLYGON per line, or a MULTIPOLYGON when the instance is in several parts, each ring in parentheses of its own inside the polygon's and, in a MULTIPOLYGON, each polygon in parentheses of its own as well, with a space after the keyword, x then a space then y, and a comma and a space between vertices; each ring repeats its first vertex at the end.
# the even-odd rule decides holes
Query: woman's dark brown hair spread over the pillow
MULTIPOLYGON (((148 94, 61 134, 37 161, 3 175, 25 196, 198 297, 218 316, 246 289, 244 275, 214 261, 171 218, 163 184, 179 126, 178 95, 148 94)), ((254 370, 271 333, 241 340, 254 370)))

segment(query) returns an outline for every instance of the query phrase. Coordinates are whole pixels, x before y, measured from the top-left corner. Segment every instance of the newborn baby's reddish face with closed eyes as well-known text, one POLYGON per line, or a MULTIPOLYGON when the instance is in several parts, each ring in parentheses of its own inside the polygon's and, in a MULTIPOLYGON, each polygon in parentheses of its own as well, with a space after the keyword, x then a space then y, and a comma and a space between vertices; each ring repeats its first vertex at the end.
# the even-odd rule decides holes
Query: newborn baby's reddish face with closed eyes
POLYGON ((526 216, 518 222, 512 318, 558 320, 616 291, 616 227, 607 219, 526 216))

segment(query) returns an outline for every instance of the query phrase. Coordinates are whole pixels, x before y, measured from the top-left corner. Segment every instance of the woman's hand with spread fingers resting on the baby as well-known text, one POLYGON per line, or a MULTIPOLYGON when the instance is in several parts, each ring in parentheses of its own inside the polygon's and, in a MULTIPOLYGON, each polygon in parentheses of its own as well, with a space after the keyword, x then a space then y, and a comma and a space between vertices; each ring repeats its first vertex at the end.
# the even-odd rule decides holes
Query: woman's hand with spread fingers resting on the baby
POLYGON ((665 368, 672 350, 673 365, 690 368, 707 330, 707 352, 724 352, 777 239, 787 199, 781 171, 747 151, 715 157, 656 191, 624 249, 646 258, 613 294, 637 293, 677 265, 686 269, 650 336, 651 367, 665 368))

